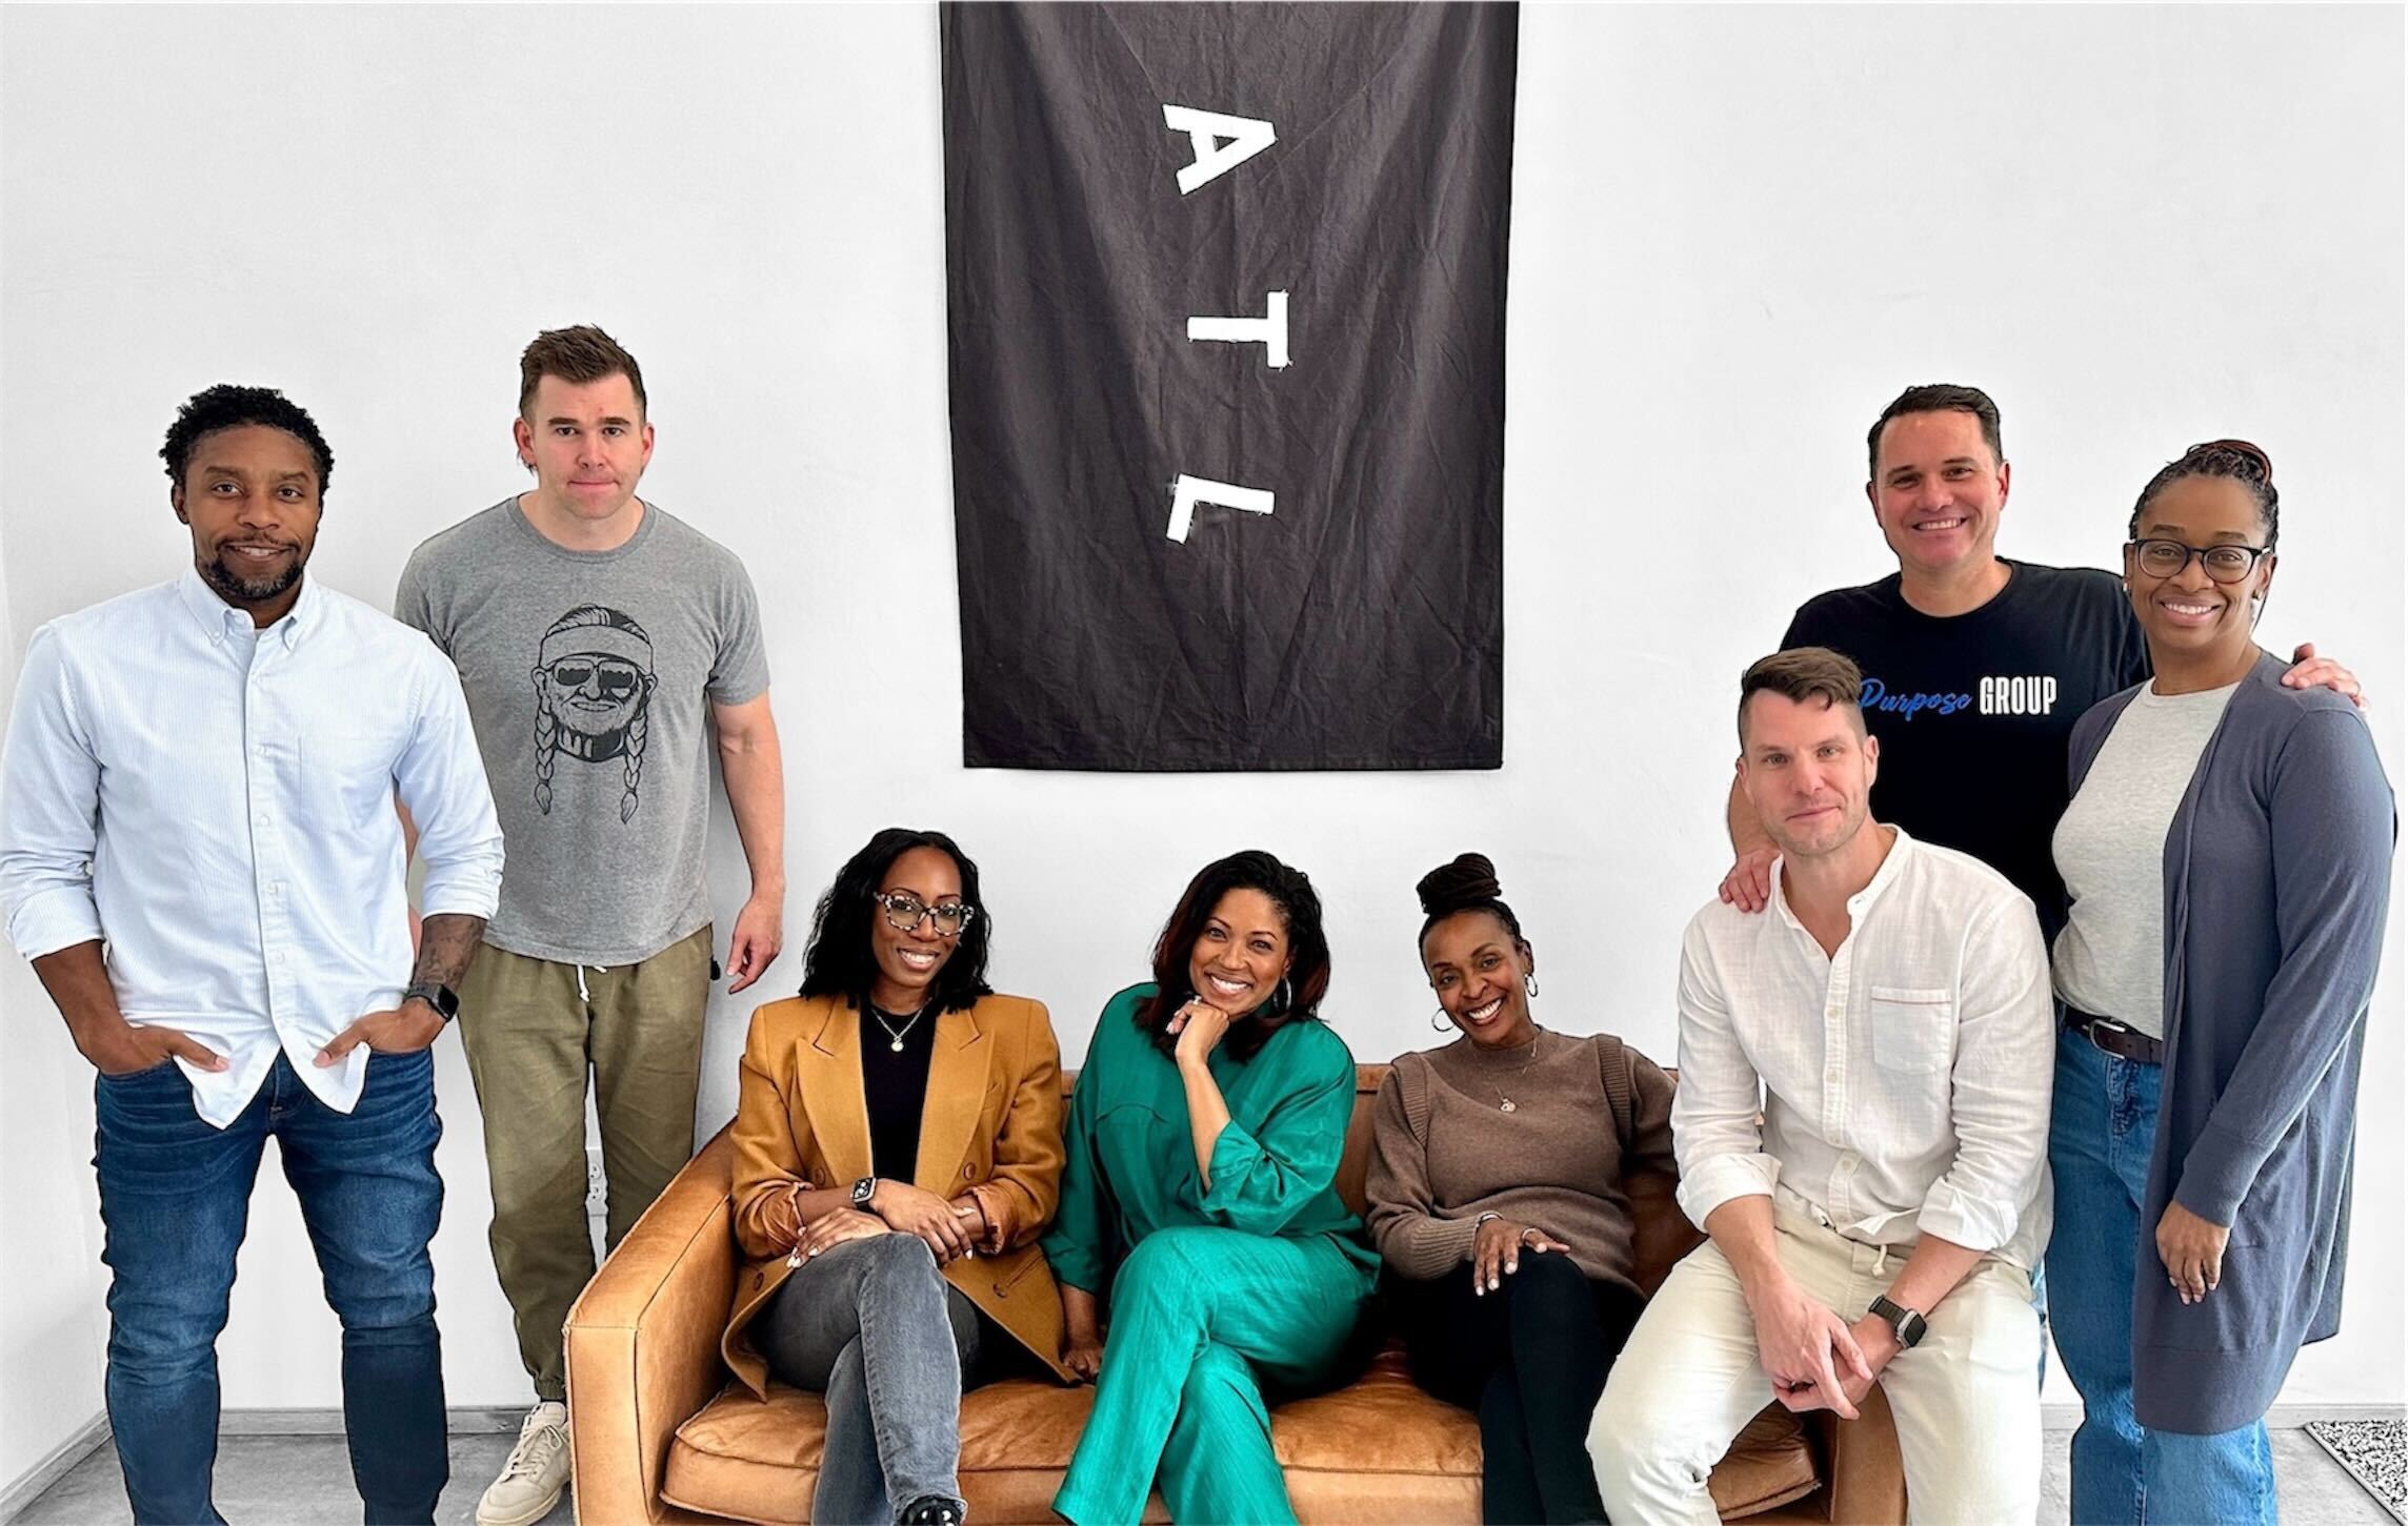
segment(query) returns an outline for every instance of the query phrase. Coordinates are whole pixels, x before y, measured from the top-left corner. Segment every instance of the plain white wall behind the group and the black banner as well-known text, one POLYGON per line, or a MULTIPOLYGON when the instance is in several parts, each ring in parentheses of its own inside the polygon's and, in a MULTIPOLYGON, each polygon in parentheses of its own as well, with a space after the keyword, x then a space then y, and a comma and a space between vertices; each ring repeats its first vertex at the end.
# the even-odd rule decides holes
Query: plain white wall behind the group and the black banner
MULTIPOLYGON (((2001 397, 2006 549, 2042 561, 2109 558, 2182 445, 2266 443, 2290 503, 2266 638, 2357 669, 2401 775, 2396 10, 1524 7, 1507 765, 1255 777, 958 768, 932 10, 60 7, 7 12, 0 39, 12 657, 181 566, 152 453, 200 385, 318 414, 337 472, 313 575, 383 602, 419 537, 520 486, 525 339, 597 320, 648 371, 648 496, 763 595, 790 946, 869 830, 944 826, 987 874, 999 984, 1050 1001, 1072 1054, 1185 876, 1245 845, 1322 886, 1329 1016, 1361 1057, 1433 1040, 1411 883, 1464 847, 1531 929, 1541 1021, 1669 1054, 1678 929, 1724 866, 1736 674, 1799 599, 1888 570, 1861 438, 1905 383, 2001 397), (881 655, 898 631, 915 657, 881 655)), ((722 811, 722 915, 742 883, 722 811)), ((2290 1401, 2403 1398, 2391 956, 2348 1338, 2300 1360, 2290 1401)), ((795 980, 787 956, 768 984, 795 980)), ((75 1057, 26 982, 0 1006, 14 1119, 75 1057)), ((713 1006, 706 1126, 749 1006, 713 1006)), ((510 1403, 450 1040, 438 1086, 450 1396, 510 1403)), ((75 1134, 55 1155, 82 1170, 84 1117, 26 1117, 75 1134)), ((55 1165, 5 1170, 14 1225, 19 1177, 55 1165)), ((84 1211, 46 1203, 60 1256, 7 1261, 43 1288, 41 1314, 0 1300, 10 1391, 84 1382, 17 1336, 92 1297, 84 1211)), ((229 1406, 337 1396, 277 1182, 224 1374, 229 1406)), ((10 1425, 0 1475, 34 1420, 10 1425)))

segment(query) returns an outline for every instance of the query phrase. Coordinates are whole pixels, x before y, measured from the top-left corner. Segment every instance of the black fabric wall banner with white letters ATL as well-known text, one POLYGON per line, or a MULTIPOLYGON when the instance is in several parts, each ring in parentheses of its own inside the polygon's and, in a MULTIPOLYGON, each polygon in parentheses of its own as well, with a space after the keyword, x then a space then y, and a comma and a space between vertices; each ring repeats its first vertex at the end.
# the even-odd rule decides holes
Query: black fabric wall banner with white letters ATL
POLYGON ((963 763, 1498 768, 1510 5, 946 5, 963 763))

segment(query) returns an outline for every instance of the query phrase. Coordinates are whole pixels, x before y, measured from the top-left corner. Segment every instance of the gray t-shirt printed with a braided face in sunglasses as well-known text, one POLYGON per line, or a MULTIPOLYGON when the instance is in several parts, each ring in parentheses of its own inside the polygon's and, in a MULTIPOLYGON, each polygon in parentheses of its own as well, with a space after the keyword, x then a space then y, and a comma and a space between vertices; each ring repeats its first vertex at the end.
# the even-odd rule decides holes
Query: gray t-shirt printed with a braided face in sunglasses
POLYGON ((393 614, 467 691, 508 847, 486 944, 628 965, 710 922, 706 700, 768 688, 725 546, 645 503, 624 546, 571 551, 513 496, 412 551, 393 614))

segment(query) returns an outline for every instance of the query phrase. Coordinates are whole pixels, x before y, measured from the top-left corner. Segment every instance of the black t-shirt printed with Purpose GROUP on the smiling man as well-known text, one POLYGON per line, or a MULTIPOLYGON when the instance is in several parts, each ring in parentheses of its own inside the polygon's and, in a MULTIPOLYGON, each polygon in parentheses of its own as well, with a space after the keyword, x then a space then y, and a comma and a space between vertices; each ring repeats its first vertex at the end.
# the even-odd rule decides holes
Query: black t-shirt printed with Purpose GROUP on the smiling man
POLYGON ((1922 614, 1890 573, 1808 599, 1782 645, 1832 647, 1864 669, 1864 724, 1881 739, 1873 816, 2011 879, 2054 941, 2066 744, 2083 710, 2148 679, 2148 643, 2114 573, 1999 561, 2006 587, 1967 614, 1922 614))

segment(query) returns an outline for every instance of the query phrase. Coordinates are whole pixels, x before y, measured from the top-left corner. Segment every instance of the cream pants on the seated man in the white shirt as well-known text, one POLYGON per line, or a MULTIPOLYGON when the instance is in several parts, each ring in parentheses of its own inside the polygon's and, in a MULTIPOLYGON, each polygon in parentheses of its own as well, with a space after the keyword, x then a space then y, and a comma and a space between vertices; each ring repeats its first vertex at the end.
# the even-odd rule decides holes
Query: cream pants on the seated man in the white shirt
MULTIPOLYGON (((1907 1264, 1789 1208, 1775 1249, 1811 1297, 1864 1319, 1907 1264)), ((2028 1524, 2040 1514, 2040 1317, 2032 1278, 1984 1256, 1929 1312, 1931 1329, 1881 1370, 1907 1468, 1907 1519, 2028 1524)), ((1772 1403, 1739 1273, 1714 1242, 1693 1249, 1647 1302, 1589 1423, 1606 1514, 1628 1526, 1712 1526, 1707 1471, 1772 1403)), ((1845 1425, 1845 1423, 1842 1423, 1845 1425)))

